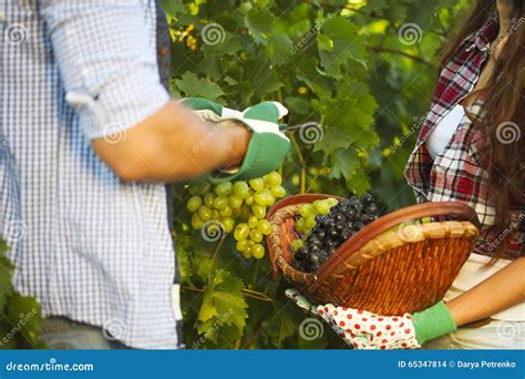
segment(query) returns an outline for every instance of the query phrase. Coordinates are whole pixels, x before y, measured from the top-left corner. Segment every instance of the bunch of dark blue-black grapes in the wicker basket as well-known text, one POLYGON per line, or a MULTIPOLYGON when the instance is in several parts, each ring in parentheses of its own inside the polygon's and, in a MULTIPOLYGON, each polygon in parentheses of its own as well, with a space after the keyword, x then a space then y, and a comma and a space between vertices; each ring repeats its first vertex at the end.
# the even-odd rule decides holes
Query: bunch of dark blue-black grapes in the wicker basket
POLYGON ((352 196, 338 202, 325 215, 316 216, 316 225, 295 240, 296 267, 311 273, 332 255, 336 249, 367 224, 378 218, 378 206, 371 194, 352 196))

